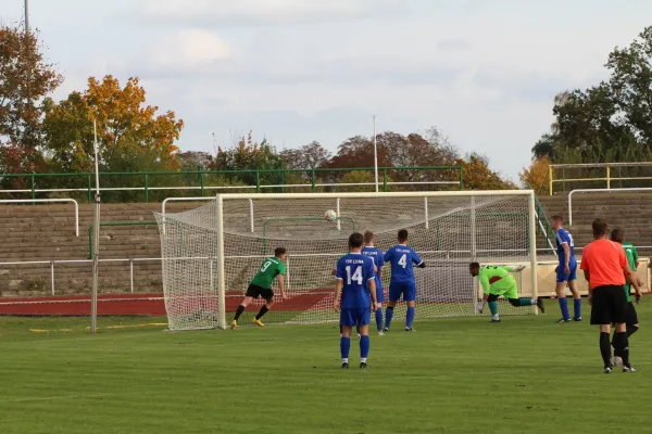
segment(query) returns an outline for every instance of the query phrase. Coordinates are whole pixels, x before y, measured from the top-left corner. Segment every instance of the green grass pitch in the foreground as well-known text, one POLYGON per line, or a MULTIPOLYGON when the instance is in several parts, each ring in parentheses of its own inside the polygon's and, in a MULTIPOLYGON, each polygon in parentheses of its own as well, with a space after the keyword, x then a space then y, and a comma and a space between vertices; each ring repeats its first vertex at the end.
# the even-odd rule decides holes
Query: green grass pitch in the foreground
POLYGON ((652 303, 631 340, 639 372, 612 375, 597 328, 553 323, 548 306, 398 322, 372 337, 366 371, 355 340, 339 369, 333 324, 166 333, 101 318, 91 336, 83 318, 0 318, 0 433, 650 432, 652 303))

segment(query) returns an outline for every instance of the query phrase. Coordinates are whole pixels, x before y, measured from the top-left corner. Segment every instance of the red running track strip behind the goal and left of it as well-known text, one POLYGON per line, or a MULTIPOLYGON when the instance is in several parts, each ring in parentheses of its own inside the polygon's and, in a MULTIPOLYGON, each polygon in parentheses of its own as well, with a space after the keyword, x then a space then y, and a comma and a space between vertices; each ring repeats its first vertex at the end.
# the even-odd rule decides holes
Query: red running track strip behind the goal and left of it
MULTIPOLYGON (((241 298, 241 292, 227 293, 226 311, 235 311, 241 298)), ((278 299, 274 310, 309 310, 325 298, 333 298, 333 290, 313 290, 286 301, 278 299)), ((88 295, 0 298, 0 316, 89 315, 90 296, 88 295)), ((165 303, 163 294, 100 295, 98 315, 162 317, 165 316, 165 303)))

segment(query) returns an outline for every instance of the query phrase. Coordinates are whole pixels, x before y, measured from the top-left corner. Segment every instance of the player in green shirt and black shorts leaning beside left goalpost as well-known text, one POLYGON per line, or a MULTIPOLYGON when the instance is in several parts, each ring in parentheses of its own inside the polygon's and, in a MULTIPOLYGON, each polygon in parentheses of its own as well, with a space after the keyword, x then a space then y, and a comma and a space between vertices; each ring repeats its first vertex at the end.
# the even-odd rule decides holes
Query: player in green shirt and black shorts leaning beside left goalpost
POLYGON ((265 324, 261 322, 261 318, 267 312, 267 310, 272 308, 272 305, 274 305, 274 291, 272 291, 272 282, 277 276, 280 297, 283 299, 286 299, 285 257, 285 247, 277 247, 274 251, 274 257, 268 257, 263 261, 261 268, 259 269, 259 272, 255 273, 253 279, 251 280, 251 283, 249 284, 249 288, 247 289, 244 299, 242 301, 242 303, 240 303, 240 306, 238 306, 238 310, 236 310, 236 316, 234 317, 234 321, 231 322, 231 330, 236 330, 236 328, 238 327, 238 318, 240 318, 240 315, 242 315, 247 306, 249 306, 249 304, 258 297, 263 297, 266 303, 263 305, 263 307, 261 307, 261 310, 253 319, 253 323, 259 327, 265 327, 265 324))

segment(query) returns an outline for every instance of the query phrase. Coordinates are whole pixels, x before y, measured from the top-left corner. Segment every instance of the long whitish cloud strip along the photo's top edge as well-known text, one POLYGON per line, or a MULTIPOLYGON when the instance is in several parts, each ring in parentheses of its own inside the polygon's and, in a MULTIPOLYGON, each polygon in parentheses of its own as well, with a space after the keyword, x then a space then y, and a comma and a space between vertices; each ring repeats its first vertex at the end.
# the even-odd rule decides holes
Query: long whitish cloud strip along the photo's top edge
POLYGON ((404 12, 402 0, 147 0, 146 18, 192 25, 283 25, 340 22, 404 12))

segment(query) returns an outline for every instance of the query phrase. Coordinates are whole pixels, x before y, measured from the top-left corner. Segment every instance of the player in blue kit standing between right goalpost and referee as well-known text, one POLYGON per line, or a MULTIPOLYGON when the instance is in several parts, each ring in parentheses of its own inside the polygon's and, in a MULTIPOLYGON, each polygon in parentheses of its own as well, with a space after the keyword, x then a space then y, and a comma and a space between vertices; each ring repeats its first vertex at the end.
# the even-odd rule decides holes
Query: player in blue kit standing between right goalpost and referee
POLYGON ((559 322, 570 322, 570 312, 568 311, 568 301, 566 299, 566 284, 573 294, 574 321, 581 321, 581 296, 577 290, 577 261, 575 260, 575 243, 573 235, 562 227, 564 219, 562 216, 552 216, 550 219, 552 229, 555 233, 557 245, 557 257, 560 264, 556 268, 556 295, 562 309, 562 319, 559 322))

